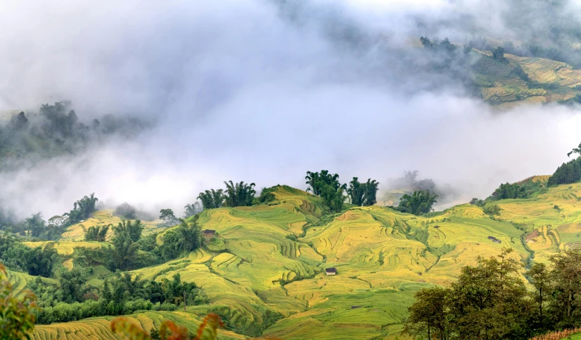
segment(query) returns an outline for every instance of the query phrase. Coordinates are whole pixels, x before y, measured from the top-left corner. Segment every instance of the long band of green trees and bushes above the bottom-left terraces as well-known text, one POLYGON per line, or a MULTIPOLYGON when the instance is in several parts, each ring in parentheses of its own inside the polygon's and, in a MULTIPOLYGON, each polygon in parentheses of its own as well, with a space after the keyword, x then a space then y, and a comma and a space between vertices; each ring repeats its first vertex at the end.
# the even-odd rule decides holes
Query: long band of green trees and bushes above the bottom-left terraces
POLYGON ((87 284, 87 273, 72 270, 63 273, 60 287, 36 280, 31 289, 39 297, 37 323, 76 321, 94 316, 131 314, 137 310, 175 310, 179 306, 206 302, 204 293, 194 283, 182 282, 179 274, 172 280, 142 280, 129 273, 116 273, 101 289, 87 284), (186 300, 184 300, 186 298, 186 300))

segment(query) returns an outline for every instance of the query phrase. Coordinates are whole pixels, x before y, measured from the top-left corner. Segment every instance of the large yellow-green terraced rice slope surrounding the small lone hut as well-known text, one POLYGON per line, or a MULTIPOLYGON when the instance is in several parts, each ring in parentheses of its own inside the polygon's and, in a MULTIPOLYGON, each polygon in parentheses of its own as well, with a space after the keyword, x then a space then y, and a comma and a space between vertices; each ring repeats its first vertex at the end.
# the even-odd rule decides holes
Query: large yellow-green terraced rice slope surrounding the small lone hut
MULTIPOLYGON (((182 280, 201 286, 209 304, 188 307, 190 318, 221 309, 229 325, 243 330, 263 323, 270 309, 284 318, 265 335, 389 339, 402 329, 415 291, 452 282, 477 256, 493 256, 509 246, 516 259, 525 261, 531 256, 522 243, 527 241, 534 260, 546 261, 581 237, 581 184, 551 188, 528 200, 495 202, 502 209, 496 219, 469 204, 431 218, 355 207, 318 225, 325 209, 318 197, 288 187, 279 187, 275 195, 271 205, 204 211, 199 223, 218 231, 220 246, 133 274, 160 281, 180 273, 182 280), (324 275, 328 267, 336 267, 338 275, 324 275)), ((39 332, 102 320, 42 326, 39 332)))

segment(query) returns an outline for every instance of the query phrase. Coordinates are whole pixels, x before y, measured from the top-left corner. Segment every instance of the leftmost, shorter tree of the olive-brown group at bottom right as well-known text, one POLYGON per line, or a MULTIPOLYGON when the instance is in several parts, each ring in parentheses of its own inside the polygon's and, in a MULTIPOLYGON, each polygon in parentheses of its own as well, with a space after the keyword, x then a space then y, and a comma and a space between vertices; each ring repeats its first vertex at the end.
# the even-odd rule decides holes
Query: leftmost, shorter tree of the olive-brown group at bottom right
POLYGON ((448 339, 449 294, 450 289, 441 287, 418 291, 416 302, 408 308, 404 332, 414 336, 426 334, 427 339, 448 339))

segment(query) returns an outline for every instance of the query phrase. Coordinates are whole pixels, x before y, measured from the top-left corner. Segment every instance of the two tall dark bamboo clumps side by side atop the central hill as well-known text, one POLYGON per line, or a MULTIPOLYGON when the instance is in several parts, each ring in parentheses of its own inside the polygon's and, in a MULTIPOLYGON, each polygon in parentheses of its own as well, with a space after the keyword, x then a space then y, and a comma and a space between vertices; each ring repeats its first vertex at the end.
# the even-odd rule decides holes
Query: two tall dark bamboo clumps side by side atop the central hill
POLYGON ((353 177, 347 188, 347 184, 341 184, 338 174, 332 174, 329 170, 320 172, 306 172, 306 184, 309 187, 307 192, 318 195, 322 198, 323 204, 332 211, 343 210, 343 204, 347 198, 352 204, 359 207, 370 206, 377 203, 377 191, 379 182, 375 179, 368 179, 367 182, 359 182, 358 177, 353 177), (347 193, 347 195, 345 195, 347 193))

